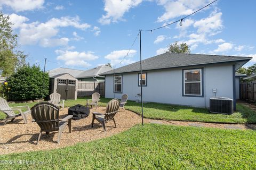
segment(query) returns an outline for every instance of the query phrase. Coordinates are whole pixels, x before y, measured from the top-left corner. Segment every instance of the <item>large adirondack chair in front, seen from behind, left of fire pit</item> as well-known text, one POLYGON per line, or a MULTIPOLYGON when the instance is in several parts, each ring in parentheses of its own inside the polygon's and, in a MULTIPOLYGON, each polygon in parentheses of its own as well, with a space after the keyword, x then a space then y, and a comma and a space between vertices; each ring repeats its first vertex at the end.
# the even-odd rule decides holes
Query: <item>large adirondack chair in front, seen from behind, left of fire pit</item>
POLYGON ((31 108, 31 116, 41 129, 36 144, 39 143, 42 132, 49 134, 50 132, 59 131, 58 143, 60 143, 61 134, 67 125, 69 133, 71 133, 71 118, 73 115, 59 119, 59 110, 58 106, 48 102, 38 103, 31 108))

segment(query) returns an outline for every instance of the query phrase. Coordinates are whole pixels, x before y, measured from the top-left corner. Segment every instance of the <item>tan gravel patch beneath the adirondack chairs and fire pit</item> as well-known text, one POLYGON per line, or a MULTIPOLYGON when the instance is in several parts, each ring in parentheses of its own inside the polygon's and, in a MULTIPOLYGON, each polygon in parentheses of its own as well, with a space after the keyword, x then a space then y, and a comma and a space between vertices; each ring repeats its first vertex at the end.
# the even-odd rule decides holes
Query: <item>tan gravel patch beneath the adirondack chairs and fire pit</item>
MULTIPOLYGON (((120 133, 127 129, 130 129, 135 124, 141 122, 141 117, 131 111, 121 111, 115 116, 117 128, 114 128, 114 122, 110 121, 106 124, 106 133, 103 132, 103 128, 100 123, 94 121, 94 127, 91 128, 92 112, 105 113, 105 107, 99 107, 91 109, 91 113, 88 117, 81 120, 71 121, 71 130, 68 132, 68 126, 63 131, 60 144, 57 143, 58 132, 51 132, 46 135, 43 132, 39 144, 36 145, 38 134, 40 131, 37 123, 31 122, 31 116, 28 116, 29 123, 24 124, 18 117, 13 123, 7 123, 3 125, 4 121, 0 121, 0 154, 10 154, 13 152, 25 152, 35 150, 49 150, 55 148, 62 148, 66 146, 74 145, 78 142, 92 141, 95 139, 109 137, 111 135, 120 133)), ((68 108, 60 111, 60 118, 67 115, 68 108)), ((148 120, 145 120, 147 123, 148 120)))

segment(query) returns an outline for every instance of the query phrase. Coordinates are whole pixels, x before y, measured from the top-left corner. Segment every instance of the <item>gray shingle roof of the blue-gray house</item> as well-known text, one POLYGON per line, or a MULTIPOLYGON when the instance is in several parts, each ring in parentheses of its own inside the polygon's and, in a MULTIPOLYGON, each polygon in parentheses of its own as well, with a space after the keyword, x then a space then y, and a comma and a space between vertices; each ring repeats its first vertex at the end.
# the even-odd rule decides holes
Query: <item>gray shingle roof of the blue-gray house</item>
MULTIPOLYGON (((167 69, 172 67, 193 66, 213 63, 225 63, 235 61, 249 61, 252 57, 205 55, 205 54, 183 54, 164 53, 142 61, 142 70, 167 69)), ((115 69, 115 73, 126 73, 140 71, 140 62, 132 63, 115 69)), ((112 71, 101 75, 113 74, 112 71)))

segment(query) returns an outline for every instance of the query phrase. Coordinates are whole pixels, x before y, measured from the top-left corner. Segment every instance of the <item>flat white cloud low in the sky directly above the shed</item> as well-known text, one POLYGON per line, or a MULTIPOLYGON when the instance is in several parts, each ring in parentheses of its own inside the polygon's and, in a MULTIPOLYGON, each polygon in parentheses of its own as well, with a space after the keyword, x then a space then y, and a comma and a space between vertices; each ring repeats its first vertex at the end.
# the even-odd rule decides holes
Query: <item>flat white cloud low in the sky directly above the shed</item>
POLYGON ((96 60, 99 57, 94 55, 93 52, 73 52, 69 50, 55 50, 55 53, 58 55, 57 60, 65 61, 66 65, 72 66, 90 66, 91 64, 87 61, 96 60))

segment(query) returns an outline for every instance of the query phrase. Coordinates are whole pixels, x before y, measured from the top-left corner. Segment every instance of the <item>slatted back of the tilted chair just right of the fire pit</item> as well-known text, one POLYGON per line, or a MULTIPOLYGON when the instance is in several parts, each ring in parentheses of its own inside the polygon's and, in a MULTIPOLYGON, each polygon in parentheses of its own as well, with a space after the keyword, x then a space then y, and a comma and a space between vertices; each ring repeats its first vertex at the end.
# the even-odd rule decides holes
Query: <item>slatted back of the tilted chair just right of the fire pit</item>
POLYGON ((120 101, 118 99, 112 99, 109 101, 106 107, 105 121, 110 121, 114 118, 119 110, 120 101))

